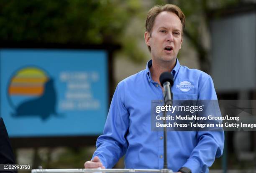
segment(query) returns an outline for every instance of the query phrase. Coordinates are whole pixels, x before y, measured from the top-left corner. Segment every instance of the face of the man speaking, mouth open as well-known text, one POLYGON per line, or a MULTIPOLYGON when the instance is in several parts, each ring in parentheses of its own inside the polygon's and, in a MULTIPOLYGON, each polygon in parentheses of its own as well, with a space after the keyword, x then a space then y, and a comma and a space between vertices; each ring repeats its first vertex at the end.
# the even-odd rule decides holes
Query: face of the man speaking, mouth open
POLYGON ((145 42, 151 47, 151 56, 155 60, 172 62, 182 45, 182 23, 171 12, 161 12, 156 16, 150 33, 145 33, 145 42))

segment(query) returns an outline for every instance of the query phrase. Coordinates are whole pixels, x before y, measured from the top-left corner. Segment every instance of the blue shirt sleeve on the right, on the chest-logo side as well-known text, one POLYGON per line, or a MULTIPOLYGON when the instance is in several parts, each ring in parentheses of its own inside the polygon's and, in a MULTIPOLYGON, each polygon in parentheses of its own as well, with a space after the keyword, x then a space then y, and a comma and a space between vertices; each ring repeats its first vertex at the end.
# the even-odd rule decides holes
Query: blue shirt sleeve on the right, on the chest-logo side
MULTIPOLYGON (((198 90, 198 100, 217 100, 212 78, 207 77, 201 81, 205 81, 198 90)), ((224 148, 224 132, 223 131, 199 131, 197 133, 197 146, 183 165, 189 168, 192 173, 201 173, 212 165, 216 157, 220 157, 224 148)))

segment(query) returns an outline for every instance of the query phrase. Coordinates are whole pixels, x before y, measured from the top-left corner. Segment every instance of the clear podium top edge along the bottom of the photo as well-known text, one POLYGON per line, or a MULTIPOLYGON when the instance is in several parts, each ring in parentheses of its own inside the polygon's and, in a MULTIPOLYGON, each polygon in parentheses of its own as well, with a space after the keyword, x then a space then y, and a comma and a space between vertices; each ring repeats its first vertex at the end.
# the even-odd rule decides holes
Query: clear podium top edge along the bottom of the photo
POLYGON ((31 173, 173 173, 170 169, 32 169, 31 173))

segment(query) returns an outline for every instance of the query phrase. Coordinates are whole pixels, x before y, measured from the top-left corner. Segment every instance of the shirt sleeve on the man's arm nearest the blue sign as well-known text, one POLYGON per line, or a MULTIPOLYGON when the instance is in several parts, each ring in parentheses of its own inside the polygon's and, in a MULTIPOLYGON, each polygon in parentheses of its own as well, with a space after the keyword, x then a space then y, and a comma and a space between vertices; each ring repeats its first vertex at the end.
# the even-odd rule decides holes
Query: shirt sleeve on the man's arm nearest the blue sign
POLYGON ((129 113, 125 108, 125 88, 119 83, 113 95, 103 134, 97 138, 92 158, 98 156, 105 168, 113 168, 128 147, 126 135, 129 127, 129 113))

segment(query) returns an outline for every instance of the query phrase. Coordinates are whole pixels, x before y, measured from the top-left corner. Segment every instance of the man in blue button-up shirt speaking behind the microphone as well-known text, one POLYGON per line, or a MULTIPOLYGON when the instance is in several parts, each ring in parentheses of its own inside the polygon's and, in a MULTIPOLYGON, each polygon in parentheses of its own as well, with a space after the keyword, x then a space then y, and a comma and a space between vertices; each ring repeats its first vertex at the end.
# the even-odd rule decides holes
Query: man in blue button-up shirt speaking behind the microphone
MULTIPOLYGON (((217 100, 209 75, 179 64, 184 25, 185 16, 175 5, 149 10, 144 36, 152 60, 118 84, 97 150, 85 168, 112 168, 123 155, 125 168, 163 168, 164 132, 151 131, 151 100, 163 100, 161 73, 174 76, 174 100, 217 100)), ((175 172, 207 173, 223 152, 223 131, 170 131, 167 139, 168 168, 175 172)))

